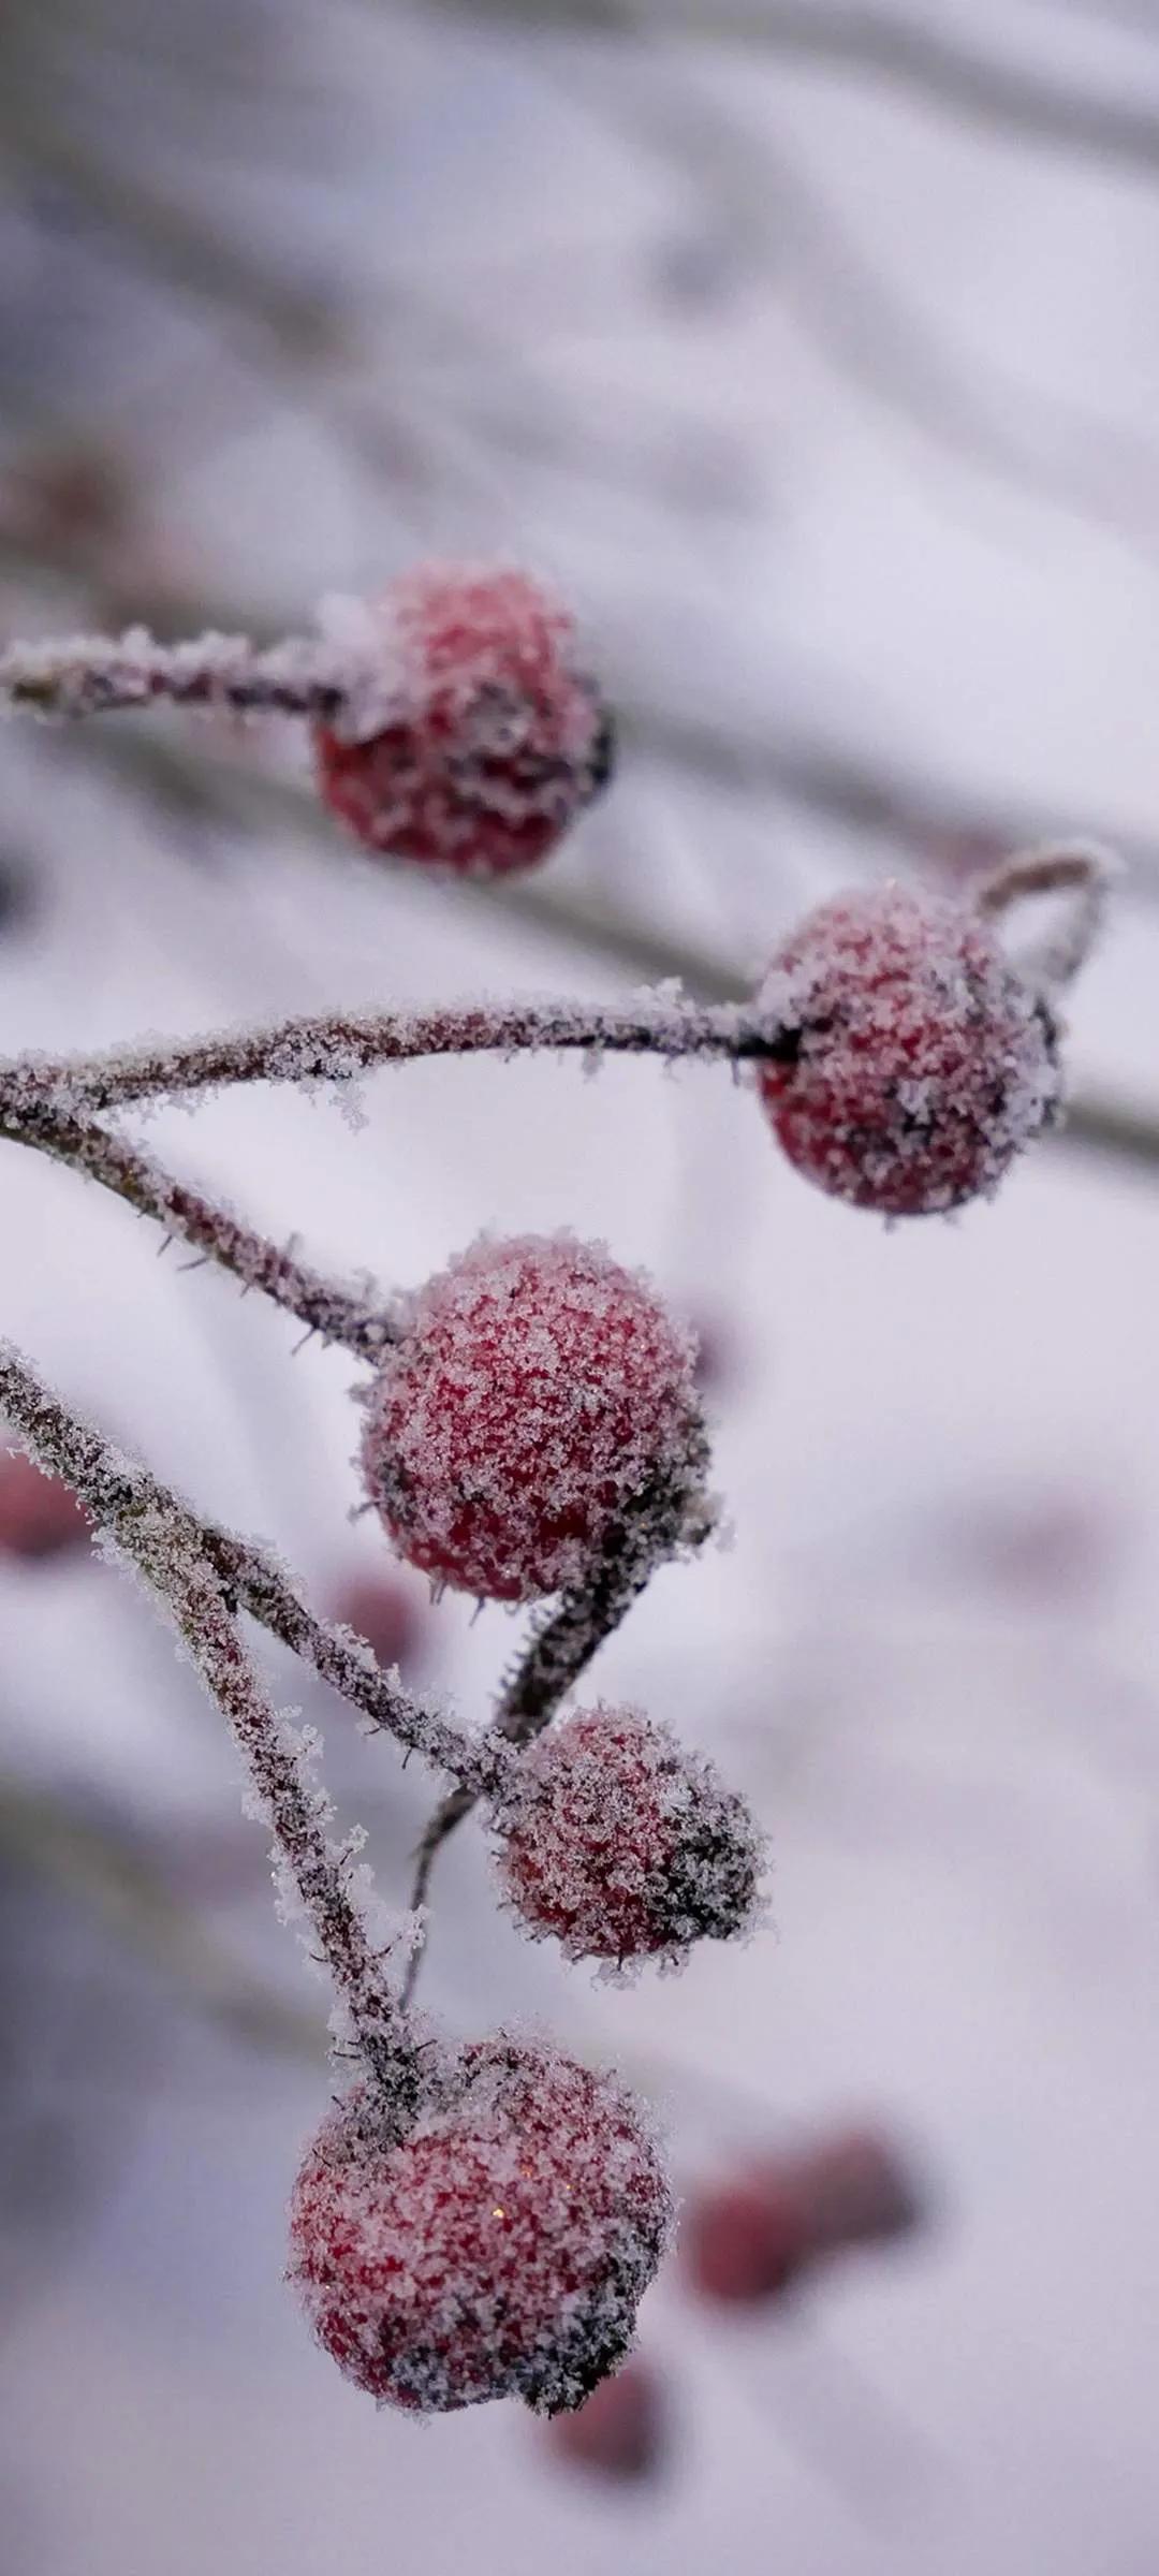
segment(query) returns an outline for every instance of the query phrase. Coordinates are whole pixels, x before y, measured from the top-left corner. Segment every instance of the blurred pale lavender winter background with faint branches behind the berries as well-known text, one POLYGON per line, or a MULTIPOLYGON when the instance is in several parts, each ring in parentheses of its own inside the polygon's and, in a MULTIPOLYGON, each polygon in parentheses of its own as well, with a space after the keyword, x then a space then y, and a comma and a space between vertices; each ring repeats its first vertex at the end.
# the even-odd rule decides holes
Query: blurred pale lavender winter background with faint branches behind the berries
MULTIPOLYGON (((569 1224, 701 1324, 731 1543, 598 1680, 713 1747, 775 1929, 592 1989, 448 1855, 430 2002, 616 2056, 688 2190, 860 2115, 904 2246, 744 2321, 664 2282, 667 2442, 587 2481, 379 2419, 281 2285, 325 1999, 221 1728, 85 1551, 0 1556, 10 2576, 1154 2576, 1159 2447, 1159 8, 8 0, 0 631, 260 636, 420 554, 577 603, 616 793, 528 886, 345 848, 278 726, 0 737, 5 1051, 332 1002, 729 992, 809 902, 1097 829, 1077 1121, 896 1231, 744 1087, 608 1064, 229 1095, 149 1141, 327 1267, 569 1224)), ((337 1605, 350 1363, 5 1151, 5 1332, 337 1605)), ((513 1649, 402 1582, 471 1718, 513 1649)), ((304 1674, 402 1904, 428 1790, 304 1674)))

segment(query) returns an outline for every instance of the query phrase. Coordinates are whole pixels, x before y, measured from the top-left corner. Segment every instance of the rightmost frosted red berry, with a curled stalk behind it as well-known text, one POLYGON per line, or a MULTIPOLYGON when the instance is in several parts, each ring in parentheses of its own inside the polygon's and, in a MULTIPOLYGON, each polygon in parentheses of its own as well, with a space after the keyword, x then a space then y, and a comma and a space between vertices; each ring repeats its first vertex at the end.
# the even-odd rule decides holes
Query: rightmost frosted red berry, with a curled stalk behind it
POLYGON ((989 922, 907 886, 811 912, 762 999, 786 1048, 760 1069, 780 1144, 855 1208, 925 1216, 994 1190, 1059 1108, 1056 1030, 989 922))

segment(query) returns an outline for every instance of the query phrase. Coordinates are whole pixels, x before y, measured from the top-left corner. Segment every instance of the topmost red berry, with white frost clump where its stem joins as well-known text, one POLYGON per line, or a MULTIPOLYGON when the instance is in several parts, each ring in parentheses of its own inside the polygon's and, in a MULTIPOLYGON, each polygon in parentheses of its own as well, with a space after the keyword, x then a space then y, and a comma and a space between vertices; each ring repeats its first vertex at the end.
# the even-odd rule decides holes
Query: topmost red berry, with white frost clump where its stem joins
POLYGON ((536 866, 605 786, 610 716, 567 608, 525 572, 422 564, 363 611, 363 739, 317 724, 327 806, 371 850, 456 873, 536 866))

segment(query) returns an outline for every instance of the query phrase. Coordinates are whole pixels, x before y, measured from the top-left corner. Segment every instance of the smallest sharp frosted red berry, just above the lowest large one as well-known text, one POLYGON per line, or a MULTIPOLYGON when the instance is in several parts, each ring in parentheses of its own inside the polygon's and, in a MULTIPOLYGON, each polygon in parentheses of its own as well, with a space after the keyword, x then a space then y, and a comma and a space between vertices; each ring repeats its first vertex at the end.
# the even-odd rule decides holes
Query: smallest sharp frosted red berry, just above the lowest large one
POLYGON ((744 1801, 636 1708, 580 1708, 541 1736, 495 1824, 505 1893, 569 1958, 683 1960, 752 1927, 762 1844, 744 1801))

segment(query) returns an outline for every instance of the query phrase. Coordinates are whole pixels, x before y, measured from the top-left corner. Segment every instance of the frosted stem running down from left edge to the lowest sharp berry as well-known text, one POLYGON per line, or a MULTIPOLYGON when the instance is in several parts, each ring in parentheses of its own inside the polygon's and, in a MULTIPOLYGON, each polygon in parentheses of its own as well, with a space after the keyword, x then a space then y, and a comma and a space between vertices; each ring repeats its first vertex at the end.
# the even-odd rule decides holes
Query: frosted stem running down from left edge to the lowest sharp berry
POLYGON ((350 1893, 350 1852, 327 1839, 330 1801, 312 1780, 306 1747, 294 1739, 252 1672, 198 1520, 67 1414, 13 1345, 0 1345, 0 1404, 31 1455, 67 1479, 178 1628, 242 1749, 278 1860, 343 1999, 350 2038, 391 2099, 415 2102, 417 2043, 350 1893))

